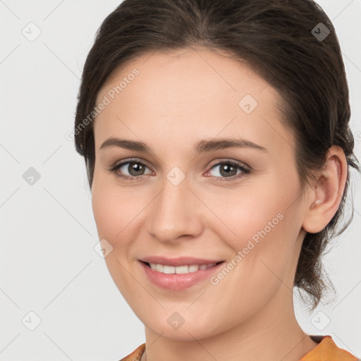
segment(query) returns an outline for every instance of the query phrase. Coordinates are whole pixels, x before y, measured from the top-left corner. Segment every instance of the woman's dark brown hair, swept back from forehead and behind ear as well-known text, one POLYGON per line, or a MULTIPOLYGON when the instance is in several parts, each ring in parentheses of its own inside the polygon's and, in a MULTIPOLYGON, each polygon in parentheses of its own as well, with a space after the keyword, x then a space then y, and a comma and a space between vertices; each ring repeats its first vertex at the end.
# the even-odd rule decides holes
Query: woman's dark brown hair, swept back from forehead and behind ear
MULTIPOLYGON (((95 161, 92 111, 104 82, 136 56, 194 45, 226 51, 279 92, 283 121, 295 135, 302 190, 313 171, 322 169, 332 145, 343 149, 348 170, 351 166, 360 171, 353 153, 348 83, 338 38, 331 20, 314 1, 125 0, 99 27, 78 94, 75 147, 85 157, 90 188, 95 161)), ((302 243, 294 286, 306 292, 312 310, 327 288, 321 255, 335 236, 349 181, 348 171, 338 211, 322 231, 307 233, 302 243)), ((352 219, 353 213, 336 235, 352 219)))

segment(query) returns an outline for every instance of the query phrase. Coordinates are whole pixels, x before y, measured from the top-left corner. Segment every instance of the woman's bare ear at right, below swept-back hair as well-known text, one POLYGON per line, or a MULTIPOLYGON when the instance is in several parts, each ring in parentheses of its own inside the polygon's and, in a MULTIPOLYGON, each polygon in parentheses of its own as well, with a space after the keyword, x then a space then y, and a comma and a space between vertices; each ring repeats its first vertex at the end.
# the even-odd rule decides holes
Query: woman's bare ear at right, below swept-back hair
POLYGON ((336 214, 341 203, 348 167, 341 147, 329 148, 324 169, 310 190, 303 228, 309 233, 322 231, 336 214))

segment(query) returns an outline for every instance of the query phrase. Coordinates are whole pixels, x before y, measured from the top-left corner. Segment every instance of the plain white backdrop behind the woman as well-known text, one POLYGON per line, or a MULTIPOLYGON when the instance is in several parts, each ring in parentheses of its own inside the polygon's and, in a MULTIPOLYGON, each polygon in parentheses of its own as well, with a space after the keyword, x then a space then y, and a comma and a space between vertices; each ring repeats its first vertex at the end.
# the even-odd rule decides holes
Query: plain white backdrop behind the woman
MULTIPOLYGON (((94 250, 85 164, 66 139, 94 34, 120 2, 0 0, 3 361, 116 361, 145 342, 143 324, 94 250)), ((318 2, 341 44, 361 160, 361 0, 318 2)), ((361 190, 360 175, 352 176, 353 222, 324 259, 336 297, 312 313, 295 297, 295 310, 305 332, 329 334, 361 357, 361 190)))

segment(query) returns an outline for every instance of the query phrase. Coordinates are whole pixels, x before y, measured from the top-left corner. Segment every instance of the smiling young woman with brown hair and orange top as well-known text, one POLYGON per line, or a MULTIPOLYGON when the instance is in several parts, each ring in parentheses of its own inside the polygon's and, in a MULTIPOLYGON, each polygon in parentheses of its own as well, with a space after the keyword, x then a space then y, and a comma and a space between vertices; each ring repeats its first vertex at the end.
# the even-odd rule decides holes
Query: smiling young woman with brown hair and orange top
POLYGON ((106 265, 145 324, 123 360, 357 360, 305 334, 353 154, 345 70, 310 0, 126 0, 75 118, 106 265), (145 350, 146 349, 146 350, 145 350))

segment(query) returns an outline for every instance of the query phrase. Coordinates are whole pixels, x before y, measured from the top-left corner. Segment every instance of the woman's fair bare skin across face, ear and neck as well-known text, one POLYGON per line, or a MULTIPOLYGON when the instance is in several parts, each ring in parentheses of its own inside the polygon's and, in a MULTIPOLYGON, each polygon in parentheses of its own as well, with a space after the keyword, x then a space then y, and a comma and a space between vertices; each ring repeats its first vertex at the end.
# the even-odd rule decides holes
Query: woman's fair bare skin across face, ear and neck
MULTIPOLYGON (((113 247, 105 258, 110 274, 145 324, 147 361, 300 360, 317 343, 295 318, 293 280, 305 232, 321 231, 341 202, 342 149, 329 149, 326 168, 302 197, 279 94, 250 68, 201 48, 145 54, 106 81, 97 103, 134 68, 140 74, 94 121, 92 207, 99 239, 113 247), (250 114, 238 105, 245 94, 258 102, 250 114), (99 149, 109 137, 141 140, 152 152, 99 149), (267 152, 193 152, 200 140, 219 137, 241 137, 267 152), (145 164, 141 179, 126 181, 109 171, 131 157, 145 164), (242 173, 237 170, 227 180, 222 164, 212 169, 227 159, 252 172, 235 178, 242 173), (174 166, 185 175, 179 185, 166 178, 174 166), (231 262, 277 214, 283 219, 216 286, 206 280, 178 292, 157 288, 137 260, 164 255, 231 262), (173 312, 185 320, 178 329, 167 322, 173 312)), ((128 164, 121 171, 137 176, 128 164)))

